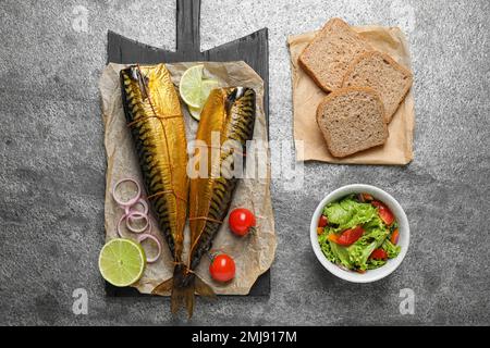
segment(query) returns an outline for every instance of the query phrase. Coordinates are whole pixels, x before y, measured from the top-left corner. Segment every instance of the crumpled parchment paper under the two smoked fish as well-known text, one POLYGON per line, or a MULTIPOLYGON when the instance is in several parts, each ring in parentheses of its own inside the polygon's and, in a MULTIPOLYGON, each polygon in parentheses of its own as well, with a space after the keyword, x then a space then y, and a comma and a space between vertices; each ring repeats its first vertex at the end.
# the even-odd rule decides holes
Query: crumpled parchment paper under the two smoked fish
MULTIPOLYGON (((198 63, 167 64, 172 80, 179 86, 180 78, 185 70, 198 63)), ((255 123, 254 138, 267 142, 267 123, 264 113, 264 82, 257 73, 245 62, 215 63, 204 62, 207 77, 217 79, 220 87, 243 86, 254 88, 257 94, 257 120, 255 123)), ((123 214, 121 208, 113 201, 111 189, 121 178, 132 177, 143 183, 139 165, 134 150, 133 139, 127 129, 123 107, 119 73, 127 65, 108 64, 102 72, 99 89, 102 99, 102 117, 105 123, 105 146, 107 151, 107 187, 105 204, 106 239, 117 237, 117 223, 123 214)), ((176 87, 177 88, 177 87, 176 87)), ((198 123, 194 121, 187 108, 183 105, 187 141, 195 138, 198 123)), ((266 152, 267 153, 267 152, 266 152)), ((231 209, 236 207, 248 208, 257 215, 257 231, 245 238, 235 237, 228 231, 228 219, 215 238, 215 251, 223 251, 232 256, 236 263, 235 278, 225 285, 212 282, 209 276, 209 258, 204 257, 195 272, 209 284, 216 294, 220 295, 246 295, 249 293, 256 279, 269 270, 275 254, 274 217, 272 213, 269 191, 270 164, 267 159, 266 178, 241 179, 236 188, 231 209)), ((143 186, 142 186, 143 187, 143 186)), ((172 276, 173 263, 167 243, 151 217, 152 232, 162 245, 162 254, 158 262, 148 264, 142 279, 134 284, 142 294, 150 294, 151 290, 172 276)), ((188 250, 188 224, 185 229, 185 249, 188 250)), ((124 237, 135 239, 136 235, 126 233, 124 237)), ((156 253, 156 247, 149 241, 144 243, 148 254, 156 253)), ((185 256, 184 256, 185 257, 185 256)))

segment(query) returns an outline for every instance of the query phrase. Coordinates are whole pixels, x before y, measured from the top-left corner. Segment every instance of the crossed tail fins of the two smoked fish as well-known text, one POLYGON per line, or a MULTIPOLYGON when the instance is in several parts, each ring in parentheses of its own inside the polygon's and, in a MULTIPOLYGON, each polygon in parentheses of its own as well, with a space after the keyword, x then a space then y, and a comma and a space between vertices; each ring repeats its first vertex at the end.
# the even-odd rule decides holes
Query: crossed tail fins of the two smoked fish
POLYGON ((171 293, 170 308, 172 313, 179 312, 181 307, 185 307, 191 319, 194 312, 195 294, 206 297, 215 297, 215 291, 196 274, 187 271, 184 264, 176 264, 173 270, 173 277, 157 285, 151 291, 152 295, 164 296, 171 293))

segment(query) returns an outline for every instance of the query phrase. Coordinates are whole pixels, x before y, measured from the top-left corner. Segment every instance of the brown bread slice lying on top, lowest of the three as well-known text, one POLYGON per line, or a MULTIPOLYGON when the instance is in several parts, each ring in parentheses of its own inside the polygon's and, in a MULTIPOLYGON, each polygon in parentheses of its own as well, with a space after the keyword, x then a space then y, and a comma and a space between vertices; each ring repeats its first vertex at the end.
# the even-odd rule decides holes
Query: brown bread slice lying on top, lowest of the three
POLYGON ((317 123, 330 153, 338 158, 383 145, 388 138, 383 103, 370 88, 331 92, 318 105, 317 123))

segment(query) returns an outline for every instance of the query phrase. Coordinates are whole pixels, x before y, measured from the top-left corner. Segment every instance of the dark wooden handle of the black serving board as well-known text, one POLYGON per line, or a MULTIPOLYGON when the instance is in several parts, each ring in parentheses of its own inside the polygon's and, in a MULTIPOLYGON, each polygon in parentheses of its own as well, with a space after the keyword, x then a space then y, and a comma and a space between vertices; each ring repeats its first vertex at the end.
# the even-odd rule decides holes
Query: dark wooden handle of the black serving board
POLYGON ((200 52, 200 0, 176 0, 176 50, 200 52))

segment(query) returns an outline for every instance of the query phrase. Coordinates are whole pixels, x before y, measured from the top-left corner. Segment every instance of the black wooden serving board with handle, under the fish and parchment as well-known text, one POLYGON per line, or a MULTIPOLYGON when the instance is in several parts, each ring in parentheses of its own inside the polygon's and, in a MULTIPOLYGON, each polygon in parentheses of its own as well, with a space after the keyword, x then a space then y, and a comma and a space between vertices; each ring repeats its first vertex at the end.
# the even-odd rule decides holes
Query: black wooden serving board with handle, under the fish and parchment
MULTIPOLYGON (((150 47, 127 39, 113 32, 108 33, 108 63, 174 63, 213 61, 245 61, 264 79, 266 120, 269 120, 269 45, 268 29, 264 28, 235 41, 221 45, 208 51, 200 51, 200 0, 176 0, 176 51, 150 47)), ((269 122, 267 122, 269 125, 269 122)), ((106 283, 108 296, 136 297, 145 296, 132 287, 118 288, 106 283)), ((270 271, 262 274, 249 296, 268 296, 270 294, 270 271)))

